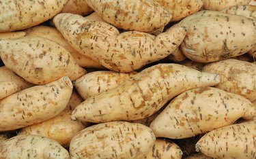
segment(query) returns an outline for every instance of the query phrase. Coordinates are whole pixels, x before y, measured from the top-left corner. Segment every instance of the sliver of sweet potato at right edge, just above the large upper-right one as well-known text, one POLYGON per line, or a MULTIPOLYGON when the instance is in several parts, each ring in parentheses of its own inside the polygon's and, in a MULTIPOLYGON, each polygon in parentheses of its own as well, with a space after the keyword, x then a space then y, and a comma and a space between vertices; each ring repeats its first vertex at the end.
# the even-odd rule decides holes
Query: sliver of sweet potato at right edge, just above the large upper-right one
POLYGON ((255 5, 235 5, 235 6, 227 7, 221 12, 256 19, 255 5))

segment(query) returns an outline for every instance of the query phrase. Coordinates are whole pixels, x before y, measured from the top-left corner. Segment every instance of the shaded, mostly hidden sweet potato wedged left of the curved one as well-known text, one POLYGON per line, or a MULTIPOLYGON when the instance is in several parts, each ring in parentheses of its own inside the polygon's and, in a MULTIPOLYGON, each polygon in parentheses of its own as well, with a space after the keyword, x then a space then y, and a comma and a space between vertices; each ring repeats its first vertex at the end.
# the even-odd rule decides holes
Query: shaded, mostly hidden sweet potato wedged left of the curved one
POLYGON ((87 67, 87 68, 104 68, 102 65, 97 63, 95 60, 91 60, 91 58, 87 58, 87 56, 84 56, 83 54, 80 54, 70 44, 68 44, 68 41, 64 39, 64 37, 59 33, 59 31, 53 27, 47 27, 47 26, 36 26, 31 29, 28 29, 26 31, 26 36, 38 36, 38 37, 44 37, 46 39, 51 39, 58 43, 60 46, 63 46, 63 48, 66 48, 68 52, 73 56, 74 60, 76 60, 76 63, 81 67, 87 67))

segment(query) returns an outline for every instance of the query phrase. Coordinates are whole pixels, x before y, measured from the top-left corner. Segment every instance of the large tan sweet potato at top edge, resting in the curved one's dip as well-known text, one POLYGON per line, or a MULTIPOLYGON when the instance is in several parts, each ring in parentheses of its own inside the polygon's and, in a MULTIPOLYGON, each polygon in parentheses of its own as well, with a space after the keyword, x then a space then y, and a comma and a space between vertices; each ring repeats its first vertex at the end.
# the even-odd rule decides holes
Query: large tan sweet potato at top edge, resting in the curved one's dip
POLYGON ((150 32, 165 27, 171 13, 154 0, 86 0, 103 20, 126 31, 150 32))

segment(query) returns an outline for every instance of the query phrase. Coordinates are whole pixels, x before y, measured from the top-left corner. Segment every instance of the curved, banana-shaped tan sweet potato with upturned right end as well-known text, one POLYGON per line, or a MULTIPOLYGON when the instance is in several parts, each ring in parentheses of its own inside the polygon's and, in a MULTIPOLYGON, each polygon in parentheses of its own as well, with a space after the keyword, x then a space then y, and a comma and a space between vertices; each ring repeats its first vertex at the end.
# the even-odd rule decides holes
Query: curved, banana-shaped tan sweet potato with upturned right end
POLYGON ((134 71, 165 58, 186 35, 186 29, 178 26, 158 36, 138 31, 119 33, 110 24, 73 14, 58 14, 53 22, 73 48, 118 72, 134 71))

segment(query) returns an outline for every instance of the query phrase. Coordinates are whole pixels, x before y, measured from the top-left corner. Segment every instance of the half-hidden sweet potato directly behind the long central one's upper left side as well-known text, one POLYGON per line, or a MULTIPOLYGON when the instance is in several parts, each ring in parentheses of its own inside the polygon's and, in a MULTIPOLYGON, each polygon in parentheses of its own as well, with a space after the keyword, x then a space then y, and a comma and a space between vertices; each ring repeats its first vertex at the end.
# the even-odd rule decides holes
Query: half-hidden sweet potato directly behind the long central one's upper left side
POLYGON ((94 71, 76 79, 75 86, 83 99, 88 99, 95 94, 119 86, 134 74, 115 71, 94 71))

